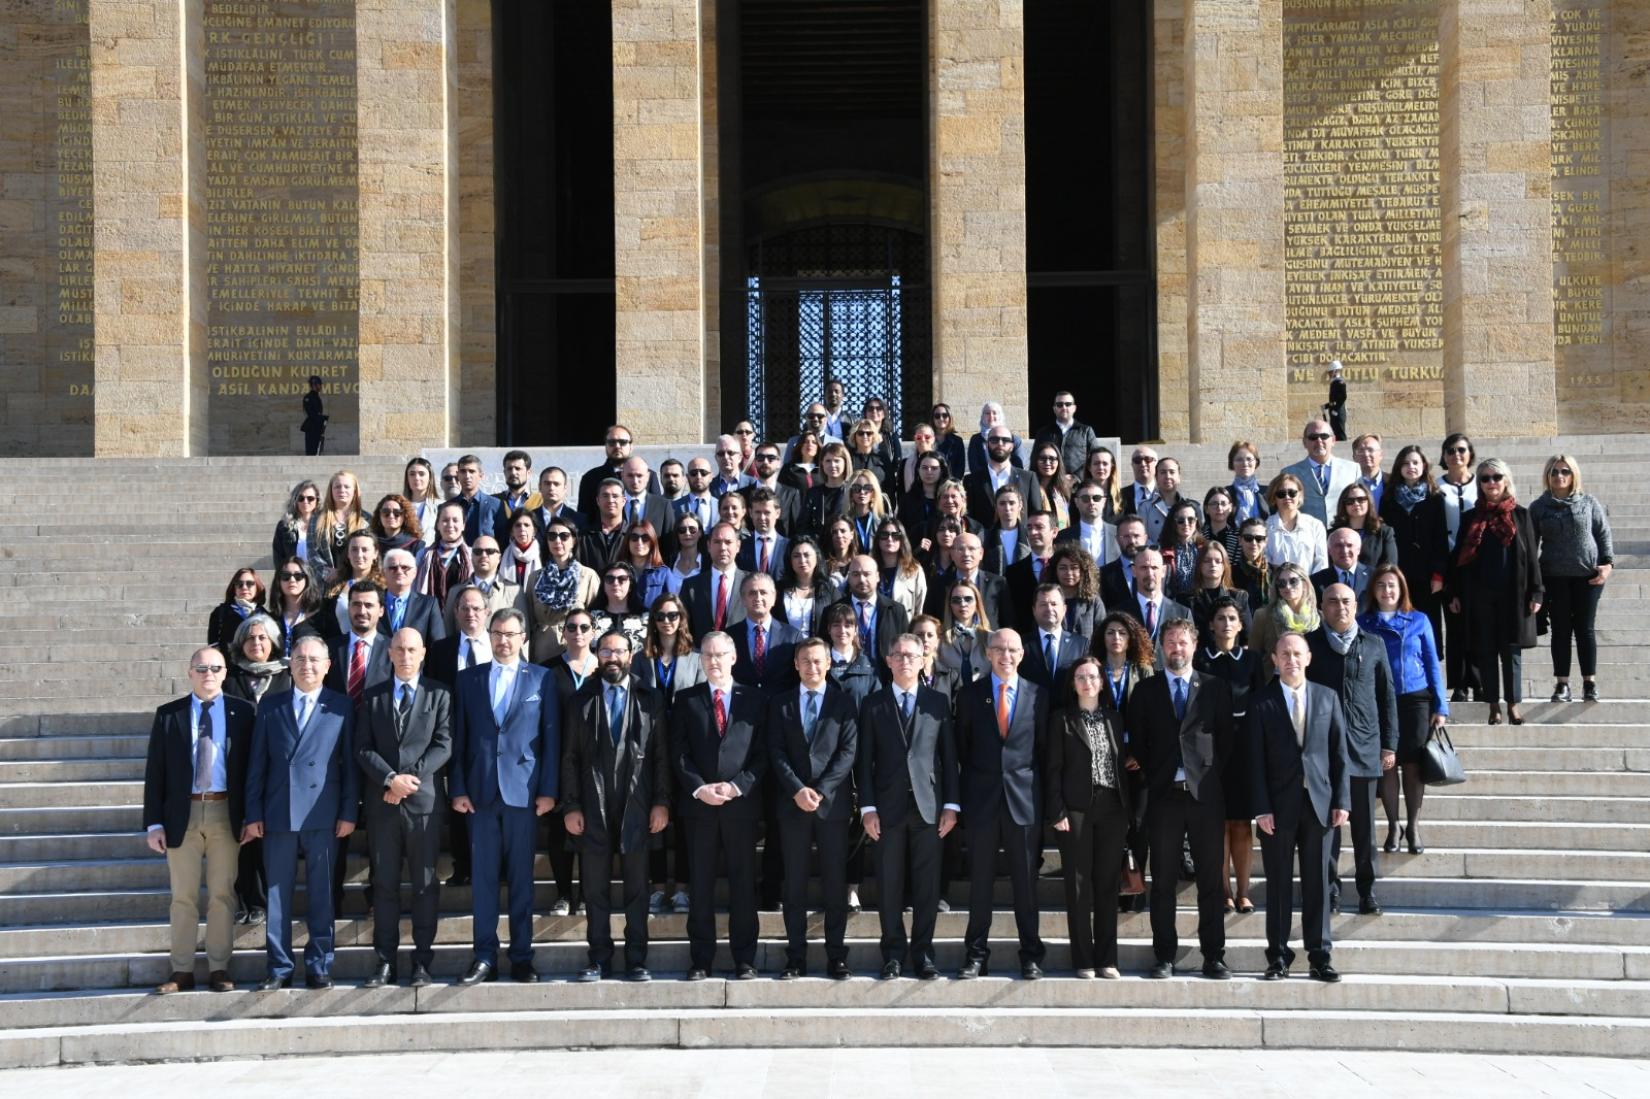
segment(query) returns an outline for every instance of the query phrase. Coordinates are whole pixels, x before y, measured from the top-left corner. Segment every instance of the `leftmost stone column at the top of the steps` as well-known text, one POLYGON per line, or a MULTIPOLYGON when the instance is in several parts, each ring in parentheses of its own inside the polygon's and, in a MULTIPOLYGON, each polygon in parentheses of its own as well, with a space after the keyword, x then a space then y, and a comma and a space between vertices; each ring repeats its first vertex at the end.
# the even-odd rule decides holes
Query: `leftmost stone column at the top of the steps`
POLYGON ((210 391, 200 3, 91 0, 87 17, 96 454, 200 455, 210 391))

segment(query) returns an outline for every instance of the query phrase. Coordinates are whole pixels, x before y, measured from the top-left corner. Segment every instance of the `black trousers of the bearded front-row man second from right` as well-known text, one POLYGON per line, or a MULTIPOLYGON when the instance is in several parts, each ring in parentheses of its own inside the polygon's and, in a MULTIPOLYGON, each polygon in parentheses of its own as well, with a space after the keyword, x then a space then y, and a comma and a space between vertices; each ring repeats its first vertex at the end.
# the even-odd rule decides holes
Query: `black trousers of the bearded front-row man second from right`
POLYGON ((1204 962, 1224 962, 1224 800, 1200 802, 1186 790, 1153 794, 1147 802, 1145 828, 1152 847, 1152 954, 1158 962, 1173 962, 1180 949, 1175 891, 1180 886, 1181 847, 1190 840, 1191 861, 1198 870, 1198 949, 1204 962))

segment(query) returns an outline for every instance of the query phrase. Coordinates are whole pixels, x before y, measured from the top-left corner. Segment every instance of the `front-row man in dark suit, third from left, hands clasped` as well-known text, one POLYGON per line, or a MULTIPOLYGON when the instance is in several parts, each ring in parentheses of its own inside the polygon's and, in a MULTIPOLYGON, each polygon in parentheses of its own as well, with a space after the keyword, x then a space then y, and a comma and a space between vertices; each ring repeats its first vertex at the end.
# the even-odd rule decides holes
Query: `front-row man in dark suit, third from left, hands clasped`
POLYGON ((373 863, 373 952, 368 988, 396 983, 401 949, 401 860, 412 884, 412 987, 432 982, 441 881, 441 776, 452 756, 452 695, 424 670, 424 637, 401 627, 389 639, 394 677, 368 688, 356 710, 355 761, 373 863))

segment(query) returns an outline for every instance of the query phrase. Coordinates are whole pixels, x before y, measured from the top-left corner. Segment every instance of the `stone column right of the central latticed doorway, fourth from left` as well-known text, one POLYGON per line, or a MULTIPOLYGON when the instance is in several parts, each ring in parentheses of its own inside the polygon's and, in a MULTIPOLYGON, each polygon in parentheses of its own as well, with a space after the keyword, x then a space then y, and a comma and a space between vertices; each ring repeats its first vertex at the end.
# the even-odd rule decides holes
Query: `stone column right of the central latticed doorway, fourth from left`
POLYGON ((1026 431, 1021 5, 942 0, 929 12, 934 398, 959 426, 1002 401, 1026 431))

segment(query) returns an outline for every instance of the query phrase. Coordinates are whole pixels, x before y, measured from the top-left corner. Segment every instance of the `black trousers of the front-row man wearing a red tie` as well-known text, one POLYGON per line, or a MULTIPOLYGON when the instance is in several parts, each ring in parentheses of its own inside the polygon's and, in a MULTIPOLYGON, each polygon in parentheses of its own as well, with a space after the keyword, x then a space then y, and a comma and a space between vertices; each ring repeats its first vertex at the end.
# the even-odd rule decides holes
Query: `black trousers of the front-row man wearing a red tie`
POLYGON ((686 817, 688 959, 693 969, 716 959, 716 856, 728 870, 728 949, 734 965, 756 965, 756 825, 759 817, 708 807, 686 817))

